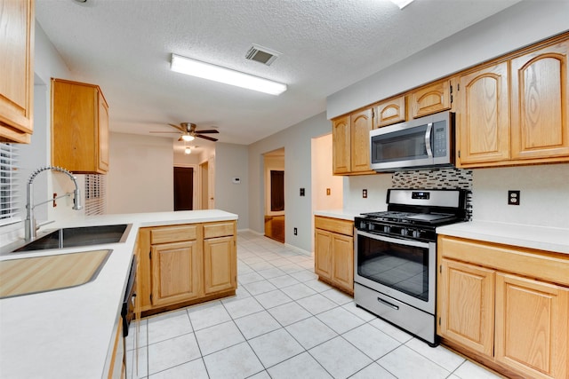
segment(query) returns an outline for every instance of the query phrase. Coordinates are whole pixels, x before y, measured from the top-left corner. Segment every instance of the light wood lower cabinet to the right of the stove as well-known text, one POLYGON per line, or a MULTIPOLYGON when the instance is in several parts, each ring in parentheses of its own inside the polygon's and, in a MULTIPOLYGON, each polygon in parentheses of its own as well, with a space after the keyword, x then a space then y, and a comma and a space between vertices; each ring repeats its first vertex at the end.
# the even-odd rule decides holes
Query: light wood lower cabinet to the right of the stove
POLYGON ((569 257, 439 236, 437 332, 504 375, 569 375, 569 257))

